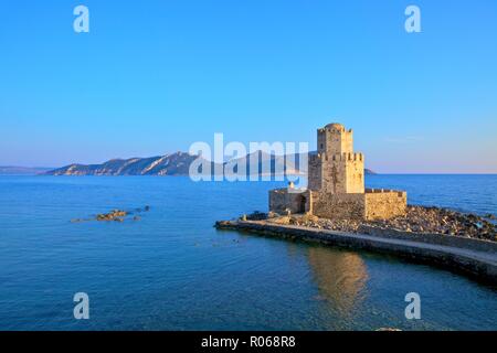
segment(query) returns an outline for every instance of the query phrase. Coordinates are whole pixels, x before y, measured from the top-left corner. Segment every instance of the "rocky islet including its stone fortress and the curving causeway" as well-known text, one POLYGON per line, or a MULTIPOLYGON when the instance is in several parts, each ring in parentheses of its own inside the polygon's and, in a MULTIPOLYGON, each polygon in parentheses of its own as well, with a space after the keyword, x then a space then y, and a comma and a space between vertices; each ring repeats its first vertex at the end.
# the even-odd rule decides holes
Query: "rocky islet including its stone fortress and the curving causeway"
POLYGON ((269 212, 220 221, 239 229, 389 253, 497 282, 495 216, 408 205, 405 191, 364 188, 364 156, 353 152, 352 130, 317 130, 308 188, 269 191, 269 212))

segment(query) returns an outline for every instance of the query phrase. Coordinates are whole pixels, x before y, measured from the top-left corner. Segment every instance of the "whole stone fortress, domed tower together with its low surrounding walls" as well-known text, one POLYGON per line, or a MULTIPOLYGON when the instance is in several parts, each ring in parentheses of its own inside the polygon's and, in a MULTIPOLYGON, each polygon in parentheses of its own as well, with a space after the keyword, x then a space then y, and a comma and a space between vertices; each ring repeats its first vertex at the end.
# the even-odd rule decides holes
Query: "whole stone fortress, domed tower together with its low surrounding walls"
POLYGON ((364 156, 353 152, 352 130, 329 124, 317 130, 317 154, 309 158, 308 189, 269 192, 269 211, 311 213, 331 220, 387 220, 405 215, 404 191, 364 190, 364 156))

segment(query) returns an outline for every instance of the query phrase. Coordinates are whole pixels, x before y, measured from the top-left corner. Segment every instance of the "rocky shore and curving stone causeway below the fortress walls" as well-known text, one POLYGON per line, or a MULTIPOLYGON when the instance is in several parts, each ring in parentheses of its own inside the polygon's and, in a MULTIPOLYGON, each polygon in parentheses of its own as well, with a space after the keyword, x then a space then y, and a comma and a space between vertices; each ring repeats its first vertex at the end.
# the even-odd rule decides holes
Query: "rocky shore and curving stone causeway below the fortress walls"
POLYGON ((405 216, 389 221, 330 221, 310 214, 255 212, 236 221, 219 221, 215 227, 388 253, 497 282, 493 215, 422 206, 409 206, 405 216))

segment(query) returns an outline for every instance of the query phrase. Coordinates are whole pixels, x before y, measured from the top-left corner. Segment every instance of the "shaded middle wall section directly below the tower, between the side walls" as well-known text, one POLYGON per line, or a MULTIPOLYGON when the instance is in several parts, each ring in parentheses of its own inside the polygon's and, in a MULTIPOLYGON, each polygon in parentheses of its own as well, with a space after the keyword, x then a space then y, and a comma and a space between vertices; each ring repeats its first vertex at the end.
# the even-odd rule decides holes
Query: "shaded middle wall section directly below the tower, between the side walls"
POLYGON ((363 220, 364 194, 313 192, 313 214, 330 220, 363 220))

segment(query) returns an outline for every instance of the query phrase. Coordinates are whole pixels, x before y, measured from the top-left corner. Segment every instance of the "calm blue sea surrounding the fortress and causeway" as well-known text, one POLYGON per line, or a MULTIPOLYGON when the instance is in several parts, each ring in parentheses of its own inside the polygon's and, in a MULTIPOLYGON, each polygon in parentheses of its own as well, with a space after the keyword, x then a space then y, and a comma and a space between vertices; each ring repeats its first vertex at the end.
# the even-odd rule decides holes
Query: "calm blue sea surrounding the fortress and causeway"
MULTIPOLYGON (((0 176, 0 330, 497 330, 497 288, 394 257, 218 232, 276 182, 0 176), (71 223, 150 206, 141 221, 71 223), (408 321, 404 296, 421 296, 408 321), (89 296, 75 320, 73 296, 89 296)), ((410 203, 497 213, 497 175, 369 175, 410 203)))

